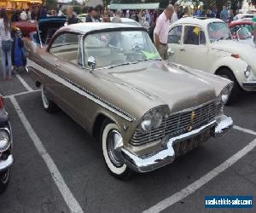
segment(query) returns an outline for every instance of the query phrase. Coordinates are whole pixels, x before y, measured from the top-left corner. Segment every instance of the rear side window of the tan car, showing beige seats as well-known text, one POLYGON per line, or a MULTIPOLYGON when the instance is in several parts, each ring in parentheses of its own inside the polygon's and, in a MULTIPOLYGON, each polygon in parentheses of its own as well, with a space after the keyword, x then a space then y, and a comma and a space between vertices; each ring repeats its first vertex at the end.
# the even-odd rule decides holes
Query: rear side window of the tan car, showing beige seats
POLYGON ((73 33, 59 35, 51 44, 49 53, 77 65, 79 63, 79 35, 73 33))

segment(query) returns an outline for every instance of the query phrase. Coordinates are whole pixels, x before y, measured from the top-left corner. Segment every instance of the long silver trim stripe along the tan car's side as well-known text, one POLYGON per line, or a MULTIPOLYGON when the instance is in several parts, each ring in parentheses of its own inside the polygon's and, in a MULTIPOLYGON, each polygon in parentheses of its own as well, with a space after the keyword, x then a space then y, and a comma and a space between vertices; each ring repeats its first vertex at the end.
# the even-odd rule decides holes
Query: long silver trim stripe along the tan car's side
POLYGON ((96 104, 108 109, 110 112, 115 113, 121 118, 125 118, 127 121, 135 121, 136 118, 131 116, 128 112, 123 111, 119 107, 115 107, 113 104, 109 103, 108 101, 102 99, 101 97, 91 93, 89 90, 85 89, 84 87, 79 86, 79 84, 74 83, 68 78, 64 78, 58 73, 49 71, 48 69, 44 68, 43 66, 40 66, 33 62, 32 60, 27 60, 28 66, 31 66, 32 69, 44 73, 44 75, 47 75, 49 78, 55 79, 56 82, 61 83, 65 86, 67 86, 69 89, 72 89, 74 92, 77 92, 79 95, 83 95, 84 97, 88 98, 90 101, 94 101, 96 104), (35 67, 38 67, 36 69, 35 67))

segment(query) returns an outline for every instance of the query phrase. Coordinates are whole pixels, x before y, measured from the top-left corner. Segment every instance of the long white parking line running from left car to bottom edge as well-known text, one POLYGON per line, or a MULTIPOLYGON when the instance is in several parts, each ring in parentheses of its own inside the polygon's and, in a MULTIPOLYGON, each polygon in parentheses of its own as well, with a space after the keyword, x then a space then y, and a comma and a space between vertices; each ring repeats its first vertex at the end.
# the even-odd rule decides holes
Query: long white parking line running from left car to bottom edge
POLYGON ((61 172, 58 170, 57 166, 55 165, 54 160, 49 156, 47 150, 45 149, 42 141, 40 141, 36 132, 32 129, 32 125, 27 120, 24 112, 22 112, 19 103, 16 101, 15 96, 10 96, 9 100, 15 107, 15 111, 18 113, 22 124, 24 125, 28 135, 32 139, 35 147, 38 150, 40 156, 44 159, 45 164, 47 165, 50 175, 52 179, 55 181, 56 186, 61 192, 63 199, 65 200, 69 210, 71 212, 84 212, 79 205, 79 202, 73 197, 73 193, 67 187, 66 182, 64 181, 63 177, 61 176, 61 172))

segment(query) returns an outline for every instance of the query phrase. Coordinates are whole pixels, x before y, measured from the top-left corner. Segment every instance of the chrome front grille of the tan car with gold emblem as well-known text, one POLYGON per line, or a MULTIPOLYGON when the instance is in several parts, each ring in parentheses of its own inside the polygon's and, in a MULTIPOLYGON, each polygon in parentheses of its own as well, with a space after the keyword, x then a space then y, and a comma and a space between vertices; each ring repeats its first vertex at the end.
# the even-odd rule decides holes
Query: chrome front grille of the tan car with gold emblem
POLYGON ((159 128, 151 130, 149 133, 142 133, 136 130, 132 135, 130 143, 133 146, 140 146, 148 142, 163 139, 166 135, 182 135, 190 130, 195 130, 211 122, 222 112, 222 105, 216 106, 214 101, 208 102, 200 107, 191 108, 182 112, 175 112, 165 118, 159 128), (193 123, 191 115, 194 113, 193 123))

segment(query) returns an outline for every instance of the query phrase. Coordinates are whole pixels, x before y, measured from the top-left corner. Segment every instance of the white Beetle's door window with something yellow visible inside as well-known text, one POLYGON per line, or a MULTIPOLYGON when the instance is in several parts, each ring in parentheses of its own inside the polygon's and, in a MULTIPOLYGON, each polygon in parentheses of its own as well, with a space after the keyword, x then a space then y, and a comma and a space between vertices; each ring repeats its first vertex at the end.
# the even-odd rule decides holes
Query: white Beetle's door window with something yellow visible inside
POLYGON ((198 26, 185 26, 183 39, 184 44, 206 44, 205 32, 198 26))

